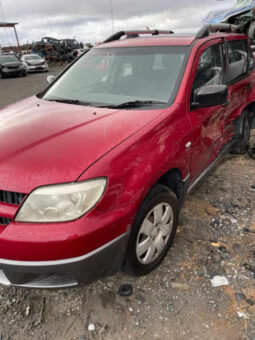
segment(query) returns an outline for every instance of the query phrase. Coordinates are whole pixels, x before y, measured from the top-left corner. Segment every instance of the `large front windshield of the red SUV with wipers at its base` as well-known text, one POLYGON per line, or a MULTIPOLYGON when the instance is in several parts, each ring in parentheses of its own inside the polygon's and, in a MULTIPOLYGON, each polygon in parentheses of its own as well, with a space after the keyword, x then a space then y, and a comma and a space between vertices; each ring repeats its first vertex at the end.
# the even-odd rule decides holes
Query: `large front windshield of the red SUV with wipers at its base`
POLYGON ((168 103, 188 47, 95 48, 44 94, 94 106, 132 101, 168 103))

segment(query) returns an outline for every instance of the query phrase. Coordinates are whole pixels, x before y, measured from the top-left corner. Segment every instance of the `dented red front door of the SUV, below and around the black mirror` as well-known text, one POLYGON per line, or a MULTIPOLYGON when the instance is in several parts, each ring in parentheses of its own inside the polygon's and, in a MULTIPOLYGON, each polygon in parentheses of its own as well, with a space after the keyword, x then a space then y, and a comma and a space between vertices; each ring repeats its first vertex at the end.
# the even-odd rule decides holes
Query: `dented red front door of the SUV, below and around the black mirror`
POLYGON ((222 147, 222 116, 224 106, 207 108, 193 106, 194 96, 203 86, 225 84, 223 40, 203 45, 197 55, 190 85, 189 119, 193 129, 191 181, 212 162, 222 147))

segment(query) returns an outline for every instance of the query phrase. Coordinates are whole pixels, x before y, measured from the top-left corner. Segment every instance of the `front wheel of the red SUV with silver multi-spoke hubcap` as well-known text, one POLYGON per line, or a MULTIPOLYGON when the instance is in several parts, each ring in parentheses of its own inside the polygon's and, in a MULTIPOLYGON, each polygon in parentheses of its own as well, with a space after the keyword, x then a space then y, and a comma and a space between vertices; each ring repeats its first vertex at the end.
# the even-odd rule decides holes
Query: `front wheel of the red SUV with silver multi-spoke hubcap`
POLYGON ((151 189, 135 218, 123 271, 142 276, 160 265, 175 236, 178 210, 178 199, 167 187, 151 189))

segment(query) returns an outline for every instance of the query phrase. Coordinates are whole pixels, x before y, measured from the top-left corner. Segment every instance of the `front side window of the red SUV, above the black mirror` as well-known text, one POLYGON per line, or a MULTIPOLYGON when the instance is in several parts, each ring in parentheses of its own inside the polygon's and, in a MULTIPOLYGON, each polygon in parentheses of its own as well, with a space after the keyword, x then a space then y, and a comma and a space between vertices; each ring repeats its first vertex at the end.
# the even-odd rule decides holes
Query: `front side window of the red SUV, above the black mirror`
POLYGON ((222 84, 223 58, 221 45, 218 44, 208 47, 200 56, 192 87, 191 103, 194 101, 194 95, 201 87, 222 84))

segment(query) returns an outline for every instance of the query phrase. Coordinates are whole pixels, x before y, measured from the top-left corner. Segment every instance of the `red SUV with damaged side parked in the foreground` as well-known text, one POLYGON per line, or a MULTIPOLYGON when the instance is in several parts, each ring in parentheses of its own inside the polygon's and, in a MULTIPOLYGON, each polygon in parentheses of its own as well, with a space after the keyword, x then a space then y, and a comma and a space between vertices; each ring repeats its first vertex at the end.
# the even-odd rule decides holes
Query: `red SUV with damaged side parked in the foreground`
POLYGON ((161 263, 186 193, 255 127, 254 61, 232 31, 119 32, 1 109, 2 284, 74 286, 161 263))

